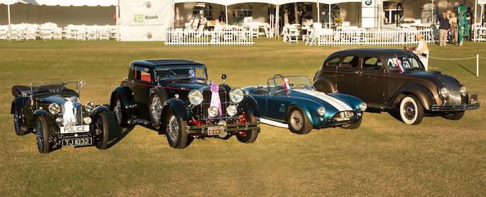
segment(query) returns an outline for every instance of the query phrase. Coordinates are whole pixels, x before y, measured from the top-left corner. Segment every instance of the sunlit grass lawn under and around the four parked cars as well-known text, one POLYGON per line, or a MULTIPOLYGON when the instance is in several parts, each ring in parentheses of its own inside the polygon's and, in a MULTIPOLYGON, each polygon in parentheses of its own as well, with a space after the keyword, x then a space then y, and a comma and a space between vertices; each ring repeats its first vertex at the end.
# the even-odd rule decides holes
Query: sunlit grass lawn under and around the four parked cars
MULTIPOLYGON (((254 144, 197 139, 170 148, 166 136, 111 125, 111 148, 65 147, 40 154, 35 134, 16 136, 14 84, 86 80, 81 100, 109 103, 131 61, 189 58, 232 87, 276 73, 313 77, 330 53, 361 46, 305 46, 257 39, 254 46, 164 46, 162 42, 0 42, 0 196, 486 196, 485 107, 462 120, 425 117, 409 126, 366 113, 357 130, 308 135, 262 126, 254 144)), ((376 47, 376 46, 375 46, 376 47)), ((390 46, 401 48, 402 46, 390 46)), ((430 46, 442 58, 486 57, 485 43, 430 46)), ((486 60, 430 60, 485 103, 486 60)), ((108 114, 111 122, 113 114, 108 114)))

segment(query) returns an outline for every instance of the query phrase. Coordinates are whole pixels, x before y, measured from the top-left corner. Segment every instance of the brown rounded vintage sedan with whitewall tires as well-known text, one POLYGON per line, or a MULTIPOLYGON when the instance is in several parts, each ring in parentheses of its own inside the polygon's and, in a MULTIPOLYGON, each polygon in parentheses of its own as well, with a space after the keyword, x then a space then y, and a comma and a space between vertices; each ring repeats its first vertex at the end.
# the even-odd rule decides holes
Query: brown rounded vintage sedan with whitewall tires
POLYGON ((316 76, 318 91, 361 98, 368 110, 388 111, 408 125, 424 115, 459 120, 480 107, 478 96, 442 72, 426 72, 418 56, 400 49, 350 49, 325 59, 316 76))

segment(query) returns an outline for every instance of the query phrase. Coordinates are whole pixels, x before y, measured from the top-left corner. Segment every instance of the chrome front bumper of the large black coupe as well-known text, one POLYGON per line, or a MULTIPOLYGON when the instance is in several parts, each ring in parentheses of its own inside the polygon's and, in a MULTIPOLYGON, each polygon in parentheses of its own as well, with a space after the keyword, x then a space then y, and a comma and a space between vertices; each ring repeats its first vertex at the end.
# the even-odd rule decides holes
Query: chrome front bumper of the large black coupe
POLYGON ((237 134, 241 131, 260 130, 260 122, 251 122, 247 124, 226 124, 226 125, 204 125, 189 126, 186 125, 187 134, 208 134, 208 127, 223 127, 228 134, 237 134))

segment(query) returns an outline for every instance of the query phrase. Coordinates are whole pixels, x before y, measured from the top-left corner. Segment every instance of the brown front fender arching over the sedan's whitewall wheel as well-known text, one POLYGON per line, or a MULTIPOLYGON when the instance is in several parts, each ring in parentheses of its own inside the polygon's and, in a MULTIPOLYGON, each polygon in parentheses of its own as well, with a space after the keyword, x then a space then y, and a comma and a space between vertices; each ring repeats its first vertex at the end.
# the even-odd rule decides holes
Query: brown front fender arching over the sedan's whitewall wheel
POLYGON ((394 96, 388 101, 386 108, 394 108, 394 105, 401 101, 406 95, 413 94, 416 96, 425 110, 430 110, 430 105, 435 104, 434 96, 432 92, 423 85, 420 84, 406 84, 401 87, 394 96))

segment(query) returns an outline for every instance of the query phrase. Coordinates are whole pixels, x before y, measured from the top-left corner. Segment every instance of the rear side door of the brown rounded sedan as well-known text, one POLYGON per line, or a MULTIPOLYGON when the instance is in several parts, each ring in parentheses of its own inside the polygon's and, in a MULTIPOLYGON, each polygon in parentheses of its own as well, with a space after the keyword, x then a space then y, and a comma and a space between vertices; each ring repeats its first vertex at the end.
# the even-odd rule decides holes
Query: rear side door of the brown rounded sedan
POLYGON ((359 97, 359 73, 361 72, 361 58, 347 56, 342 58, 336 72, 337 91, 359 97))

